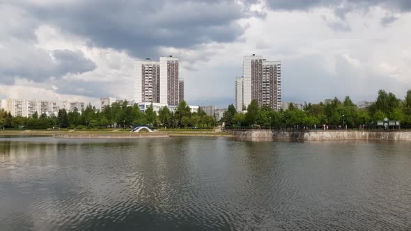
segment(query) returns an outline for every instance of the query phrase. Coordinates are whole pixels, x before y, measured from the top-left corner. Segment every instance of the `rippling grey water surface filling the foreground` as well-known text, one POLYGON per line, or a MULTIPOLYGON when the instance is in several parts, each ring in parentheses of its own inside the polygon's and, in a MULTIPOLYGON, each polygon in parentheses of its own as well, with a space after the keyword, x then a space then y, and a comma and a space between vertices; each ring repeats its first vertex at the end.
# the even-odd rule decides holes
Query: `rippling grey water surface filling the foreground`
POLYGON ((409 230, 411 143, 0 138, 0 230, 409 230))

